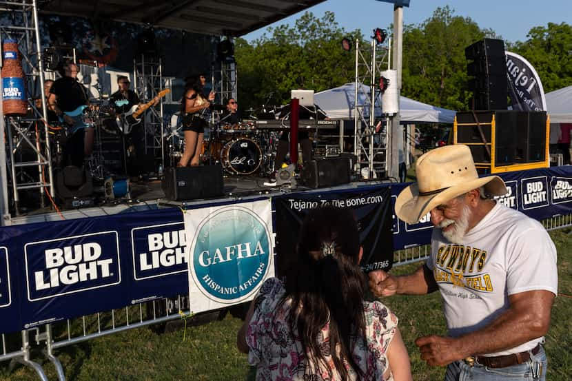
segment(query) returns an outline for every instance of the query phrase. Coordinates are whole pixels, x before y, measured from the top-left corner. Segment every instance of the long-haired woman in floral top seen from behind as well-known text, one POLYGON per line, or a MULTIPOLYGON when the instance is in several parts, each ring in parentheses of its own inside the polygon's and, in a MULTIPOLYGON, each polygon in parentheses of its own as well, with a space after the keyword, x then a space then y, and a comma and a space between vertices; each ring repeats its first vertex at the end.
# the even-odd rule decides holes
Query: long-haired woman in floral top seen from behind
POLYGON ((361 256, 349 209, 309 212, 285 283, 263 283, 238 331, 257 381, 411 380, 396 316, 365 301, 361 256))

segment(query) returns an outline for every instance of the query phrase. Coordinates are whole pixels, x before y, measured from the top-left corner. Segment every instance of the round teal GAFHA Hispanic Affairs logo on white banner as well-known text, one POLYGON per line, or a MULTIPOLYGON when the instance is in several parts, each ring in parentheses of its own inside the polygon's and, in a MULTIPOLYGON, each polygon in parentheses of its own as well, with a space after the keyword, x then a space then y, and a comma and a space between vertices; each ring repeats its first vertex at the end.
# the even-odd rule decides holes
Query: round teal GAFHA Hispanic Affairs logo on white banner
POLYGON ((265 223, 243 207, 229 207, 205 218, 192 247, 192 276, 212 300, 247 298, 265 278, 272 260, 265 223))

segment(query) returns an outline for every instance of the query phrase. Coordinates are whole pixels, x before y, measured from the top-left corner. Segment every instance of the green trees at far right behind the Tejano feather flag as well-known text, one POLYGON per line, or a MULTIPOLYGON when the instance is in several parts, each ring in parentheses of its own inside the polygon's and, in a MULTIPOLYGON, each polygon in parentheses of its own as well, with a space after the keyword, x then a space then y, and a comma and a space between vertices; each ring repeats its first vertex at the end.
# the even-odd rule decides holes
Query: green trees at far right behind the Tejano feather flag
POLYGON ((546 27, 532 28, 527 37, 511 49, 533 65, 544 92, 572 85, 572 26, 548 23, 546 27))

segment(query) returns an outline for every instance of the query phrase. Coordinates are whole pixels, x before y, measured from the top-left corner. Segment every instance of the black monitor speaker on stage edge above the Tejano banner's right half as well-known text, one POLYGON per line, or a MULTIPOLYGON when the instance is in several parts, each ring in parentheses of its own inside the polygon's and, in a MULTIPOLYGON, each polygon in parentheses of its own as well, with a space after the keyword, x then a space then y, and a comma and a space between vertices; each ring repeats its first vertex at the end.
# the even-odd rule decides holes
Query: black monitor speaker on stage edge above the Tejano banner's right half
POLYGON ((312 160, 302 170, 302 181, 310 188, 333 187, 347 184, 351 176, 349 157, 312 160))

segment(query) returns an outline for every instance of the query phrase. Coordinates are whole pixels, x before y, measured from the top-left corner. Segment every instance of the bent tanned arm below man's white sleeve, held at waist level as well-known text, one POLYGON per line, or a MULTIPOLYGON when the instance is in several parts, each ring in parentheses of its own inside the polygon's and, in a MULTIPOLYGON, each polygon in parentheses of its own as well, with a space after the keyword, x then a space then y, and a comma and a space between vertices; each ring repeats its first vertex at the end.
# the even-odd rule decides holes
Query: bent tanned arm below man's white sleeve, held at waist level
POLYGON ((547 333, 553 301, 551 291, 513 294, 509 296, 509 309, 487 327, 458 338, 425 336, 418 338, 415 344, 421 351, 421 358, 433 366, 518 347, 547 333))

